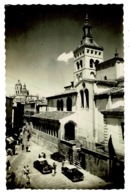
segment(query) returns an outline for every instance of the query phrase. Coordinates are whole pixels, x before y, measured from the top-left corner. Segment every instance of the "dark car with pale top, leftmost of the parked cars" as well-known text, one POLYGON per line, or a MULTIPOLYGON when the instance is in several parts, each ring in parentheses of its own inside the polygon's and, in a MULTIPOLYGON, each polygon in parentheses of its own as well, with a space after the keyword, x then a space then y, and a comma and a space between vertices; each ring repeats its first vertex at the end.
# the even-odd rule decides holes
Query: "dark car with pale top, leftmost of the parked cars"
POLYGON ((39 158, 33 162, 34 168, 43 174, 52 173, 53 167, 44 158, 39 158))

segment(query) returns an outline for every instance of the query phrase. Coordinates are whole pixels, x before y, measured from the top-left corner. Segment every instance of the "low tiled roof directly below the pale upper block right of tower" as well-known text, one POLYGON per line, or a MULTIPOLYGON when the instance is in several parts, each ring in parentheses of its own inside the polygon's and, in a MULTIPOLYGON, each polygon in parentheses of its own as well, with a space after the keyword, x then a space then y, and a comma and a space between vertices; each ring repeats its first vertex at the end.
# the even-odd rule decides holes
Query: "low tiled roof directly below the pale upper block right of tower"
POLYGON ((109 95, 109 94, 124 94, 124 88, 121 88, 121 87, 113 87, 111 89, 108 89, 106 91, 103 91, 101 93, 95 93, 95 96, 100 96, 100 95, 109 95))

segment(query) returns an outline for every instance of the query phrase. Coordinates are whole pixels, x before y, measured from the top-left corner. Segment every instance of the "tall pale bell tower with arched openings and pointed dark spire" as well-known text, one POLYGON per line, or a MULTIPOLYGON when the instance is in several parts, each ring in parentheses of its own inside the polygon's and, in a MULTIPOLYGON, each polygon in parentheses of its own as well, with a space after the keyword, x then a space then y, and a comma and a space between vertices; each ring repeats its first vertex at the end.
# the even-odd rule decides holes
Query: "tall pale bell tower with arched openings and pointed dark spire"
POLYGON ((103 48, 94 41, 86 14, 83 36, 78 48, 74 50, 74 83, 82 79, 95 79, 95 65, 103 62, 103 48))

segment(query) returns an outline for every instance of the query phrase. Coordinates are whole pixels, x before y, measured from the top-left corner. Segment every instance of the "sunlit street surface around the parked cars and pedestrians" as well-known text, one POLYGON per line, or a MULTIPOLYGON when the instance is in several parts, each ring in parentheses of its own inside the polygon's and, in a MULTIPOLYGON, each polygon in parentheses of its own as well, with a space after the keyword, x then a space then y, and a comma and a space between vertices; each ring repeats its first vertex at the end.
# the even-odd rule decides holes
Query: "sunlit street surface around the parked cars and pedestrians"
POLYGON ((46 153, 46 159, 49 164, 53 164, 54 160, 50 158, 50 151, 44 150, 43 147, 34 142, 30 143, 31 152, 22 151, 21 145, 18 146, 18 155, 10 156, 11 170, 15 172, 15 189, 31 188, 31 189, 111 189, 111 184, 103 179, 80 169, 84 173, 84 181, 72 182, 61 173, 61 163, 56 162, 57 172, 54 175, 41 174, 33 167, 33 162, 38 158, 41 152, 46 153), (29 165, 30 168, 30 185, 22 177, 23 167, 29 165))

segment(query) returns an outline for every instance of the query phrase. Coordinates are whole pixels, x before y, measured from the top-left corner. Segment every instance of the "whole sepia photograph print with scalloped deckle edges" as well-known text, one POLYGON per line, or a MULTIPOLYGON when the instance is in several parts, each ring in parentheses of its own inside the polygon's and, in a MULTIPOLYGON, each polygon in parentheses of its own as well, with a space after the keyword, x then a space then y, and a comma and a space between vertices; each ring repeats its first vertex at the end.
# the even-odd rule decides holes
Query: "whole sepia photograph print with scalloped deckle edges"
POLYGON ((6 189, 124 189, 122 4, 5 4, 6 189))

